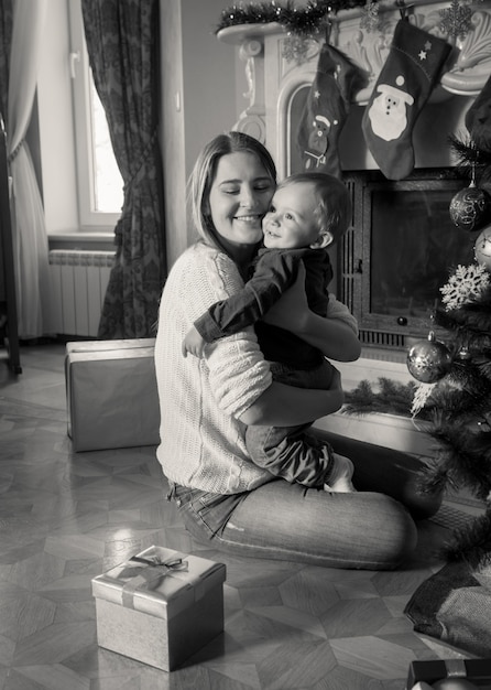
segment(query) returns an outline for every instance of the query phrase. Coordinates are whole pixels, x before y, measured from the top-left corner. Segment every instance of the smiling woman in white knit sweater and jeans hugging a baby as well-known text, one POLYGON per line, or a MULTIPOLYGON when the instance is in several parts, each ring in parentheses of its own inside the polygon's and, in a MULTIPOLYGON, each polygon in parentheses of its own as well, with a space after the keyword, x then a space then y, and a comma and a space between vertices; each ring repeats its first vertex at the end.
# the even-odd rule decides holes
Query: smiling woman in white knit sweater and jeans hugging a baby
MULTIPOLYGON (((193 322, 242 287, 275 176, 264 147, 239 132, 215 138, 193 171, 190 200, 200 240, 168 276, 155 344, 157 459, 170 481, 168 497, 188 531, 218 550, 332 568, 396 568, 417 538, 401 502, 419 516, 438 507, 438 499, 414 489, 417 461, 324 434, 354 462, 359 489, 330 494, 276 479, 247 454, 246 425, 295 425, 329 414, 342 405, 339 380, 329 391, 273 381, 252 328, 210 344, 204 359, 182 355, 193 322)), ((328 319, 309 312, 301 279, 268 320, 330 359, 356 359, 360 344, 348 310, 332 300, 328 319)))

